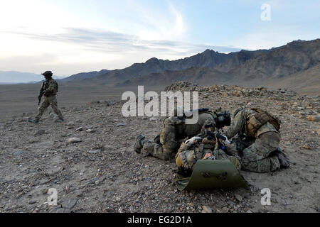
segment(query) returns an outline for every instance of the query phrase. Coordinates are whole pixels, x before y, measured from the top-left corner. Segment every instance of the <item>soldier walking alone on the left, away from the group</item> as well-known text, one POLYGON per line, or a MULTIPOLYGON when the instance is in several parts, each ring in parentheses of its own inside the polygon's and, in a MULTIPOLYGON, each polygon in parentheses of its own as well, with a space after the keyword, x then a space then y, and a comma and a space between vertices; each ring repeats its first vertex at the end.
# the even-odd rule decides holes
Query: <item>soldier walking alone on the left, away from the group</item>
POLYGON ((46 71, 43 73, 43 76, 46 78, 46 81, 43 82, 40 90, 39 104, 41 96, 44 95, 45 97, 41 106, 38 108, 38 115, 35 117, 34 120, 30 120, 31 123, 38 123, 44 111, 46 111, 46 109, 49 106, 51 106, 53 111, 55 111, 55 114, 58 115, 58 119, 55 122, 63 122, 63 115, 61 114, 61 111, 58 109, 56 96, 58 92, 58 83, 54 79, 52 79, 52 75, 53 73, 51 71, 46 71))

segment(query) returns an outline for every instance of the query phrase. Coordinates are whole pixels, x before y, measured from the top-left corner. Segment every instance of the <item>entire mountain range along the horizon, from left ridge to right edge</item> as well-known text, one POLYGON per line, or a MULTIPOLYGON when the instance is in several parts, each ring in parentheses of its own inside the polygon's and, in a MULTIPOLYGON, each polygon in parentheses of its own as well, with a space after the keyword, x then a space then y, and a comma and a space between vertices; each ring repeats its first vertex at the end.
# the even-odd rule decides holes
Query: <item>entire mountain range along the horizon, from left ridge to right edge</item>
POLYGON ((180 60, 155 57, 122 70, 76 74, 63 81, 110 86, 159 86, 187 80, 198 84, 320 87, 320 39, 296 40, 270 50, 241 50, 229 54, 206 50, 180 60), (282 83, 283 81, 283 83, 282 83), (303 86, 297 86, 301 81, 303 86), (284 83, 285 82, 285 83, 284 83), (316 83, 316 84, 314 84, 316 83))

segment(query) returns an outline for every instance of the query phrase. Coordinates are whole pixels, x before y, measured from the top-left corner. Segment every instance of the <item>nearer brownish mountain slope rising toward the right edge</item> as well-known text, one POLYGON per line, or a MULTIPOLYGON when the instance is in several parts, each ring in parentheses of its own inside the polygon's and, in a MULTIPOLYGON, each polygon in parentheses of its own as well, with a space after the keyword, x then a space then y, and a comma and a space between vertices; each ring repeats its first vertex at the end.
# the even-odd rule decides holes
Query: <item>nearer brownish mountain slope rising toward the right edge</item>
POLYGON ((239 84, 243 86, 269 86, 320 89, 320 39, 297 40, 279 48, 232 53, 232 57, 214 67, 190 68, 176 72, 164 71, 158 74, 129 79, 119 83, 126 85, 169 85, 178 80, 198 84, 239 84), (294 78, 294 79, 290 79, 294 78), (282 82, 282 81, 285 81, 282 82), (297 86, 295 83, 304 84, 297 86))

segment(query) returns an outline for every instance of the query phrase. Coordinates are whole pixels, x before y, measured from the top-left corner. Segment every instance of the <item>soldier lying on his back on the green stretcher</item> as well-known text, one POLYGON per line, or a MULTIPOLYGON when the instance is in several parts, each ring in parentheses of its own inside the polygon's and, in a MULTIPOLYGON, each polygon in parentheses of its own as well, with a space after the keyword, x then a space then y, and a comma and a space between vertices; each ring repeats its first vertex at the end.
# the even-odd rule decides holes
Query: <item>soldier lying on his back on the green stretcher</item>
MULTIPOLYGON (((199 138, 197 143, 187 143, 184 141, 176 154, 176 165, 182 175, 188 177, 191 175, 193 167, 195 167, 197 160, 201 159, 212 159, 212 160, 230 160, 235 165, 237 170, 241 170, 240 157, 238 155, 229 156, 225 153, 225 147, 218 146, 216 140, 208 136, 206 138, 199 138), (184 174, 183 174, 184 173, 184 174)), ((221 143, 219 141, 218 143, 221 143)))

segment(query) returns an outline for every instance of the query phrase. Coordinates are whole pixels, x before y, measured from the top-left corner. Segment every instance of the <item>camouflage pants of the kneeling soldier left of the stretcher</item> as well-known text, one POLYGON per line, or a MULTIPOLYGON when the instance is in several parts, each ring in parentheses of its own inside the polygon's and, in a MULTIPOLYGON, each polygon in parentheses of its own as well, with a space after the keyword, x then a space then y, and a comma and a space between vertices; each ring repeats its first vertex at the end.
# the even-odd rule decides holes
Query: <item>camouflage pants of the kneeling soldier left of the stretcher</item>
POLYGON ((146 141, 144 142, 142 152, 149 153, 149 155, 161 160, 169 160, 171 155, 175 155, 182 143, 182 140, 180 139, 180 142, 177 136, 177 127, 165 124, 160 133, 160 143, 146 141))

